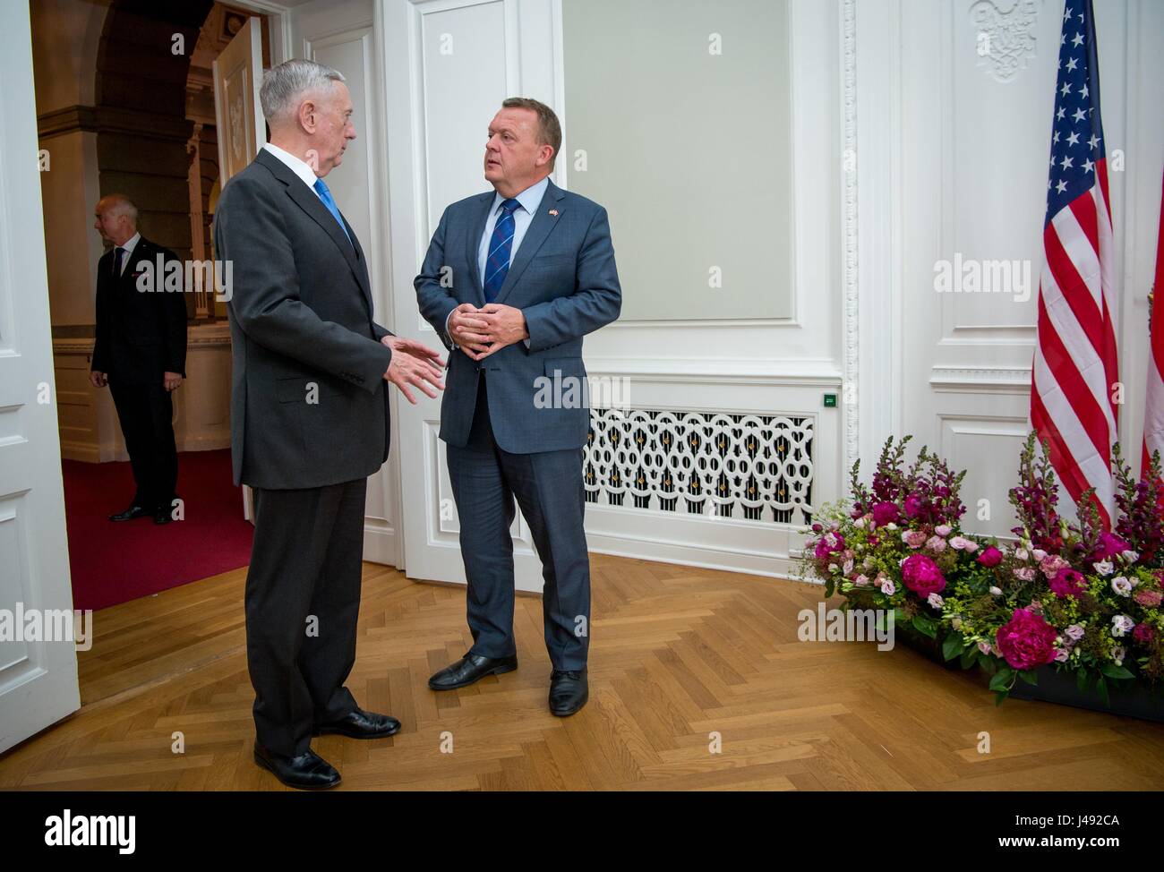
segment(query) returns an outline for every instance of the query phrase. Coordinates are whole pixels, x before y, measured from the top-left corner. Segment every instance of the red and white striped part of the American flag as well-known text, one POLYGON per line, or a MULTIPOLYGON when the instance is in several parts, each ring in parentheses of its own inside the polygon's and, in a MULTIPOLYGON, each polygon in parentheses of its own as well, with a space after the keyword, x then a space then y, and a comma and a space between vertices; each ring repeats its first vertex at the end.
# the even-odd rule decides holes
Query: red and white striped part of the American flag
POLYGON ((1108 302, 1114 246, 1107 161, 1098 184, 1062 208, 1043 232, 1031 424, 1078 503, 1087 488, 1106 526, 1114 509, 1112 446, 1117 439, 1119 363, 1108 302))

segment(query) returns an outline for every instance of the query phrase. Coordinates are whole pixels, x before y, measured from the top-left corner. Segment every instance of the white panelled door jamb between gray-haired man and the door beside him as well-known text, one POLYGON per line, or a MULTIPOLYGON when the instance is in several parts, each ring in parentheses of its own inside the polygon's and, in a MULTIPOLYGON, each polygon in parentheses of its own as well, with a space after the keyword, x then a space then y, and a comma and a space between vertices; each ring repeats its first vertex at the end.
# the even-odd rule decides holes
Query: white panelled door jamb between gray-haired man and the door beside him
MULTIPOLYGON (((343 217, 356 232, 368 257, 375 319, 393 333, 402 333, 390 304, 390 258, 388 253, 386 153, 383 134, 379 40, 376 17, 378 5, 371 0, 314 0, 286 14, 290 29, 290 56, 326 64, 343 73, 352 104, 356 139, 348 146, 343 163, 327 175, 327 186, 343 217)), ((407 289, 411 291, 411 288, 407 289)), ((406 331, 405 331, 406 332, 406 331)), ((398 399, 396 389, 390 402, 398 399)), ((399 405, 392 409, 397 431, 399 405)), ((364 560, 403 566, 403 539, 399 534, 399 451, 397 435, 388 463, 368 480, 364 509, 364 560)))

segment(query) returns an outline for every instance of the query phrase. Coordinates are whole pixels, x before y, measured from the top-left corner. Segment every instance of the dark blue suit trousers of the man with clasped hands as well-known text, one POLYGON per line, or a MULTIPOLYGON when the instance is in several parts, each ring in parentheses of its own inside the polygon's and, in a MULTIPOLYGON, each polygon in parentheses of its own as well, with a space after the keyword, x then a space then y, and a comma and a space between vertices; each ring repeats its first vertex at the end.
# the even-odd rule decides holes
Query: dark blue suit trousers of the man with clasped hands
POLYGON ((485 377, 466 447, 446 446, 453 498, 461 523, 468 581, 470 652, 516 653, 513 638, 513 498, 541 559, 546 650, 558 669, 582 669, 590 643, 590 558, 585 547, 582 448, 510 454, 497 446, 489 420, 485 377))

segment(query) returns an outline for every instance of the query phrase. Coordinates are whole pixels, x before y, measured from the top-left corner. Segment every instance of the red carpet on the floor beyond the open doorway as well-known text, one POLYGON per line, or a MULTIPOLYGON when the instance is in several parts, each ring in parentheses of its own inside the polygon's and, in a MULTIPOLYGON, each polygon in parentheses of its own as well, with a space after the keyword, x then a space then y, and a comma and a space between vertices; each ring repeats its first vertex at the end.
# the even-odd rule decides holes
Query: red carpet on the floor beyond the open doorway
POLYGON ((74 609, 104 609, 250 562, 254 527, 242 518, 229 449, 178 455, 186 517, 162 526, 152 517, 109 520, 134 495, 128 462, 62 467, 74 609))

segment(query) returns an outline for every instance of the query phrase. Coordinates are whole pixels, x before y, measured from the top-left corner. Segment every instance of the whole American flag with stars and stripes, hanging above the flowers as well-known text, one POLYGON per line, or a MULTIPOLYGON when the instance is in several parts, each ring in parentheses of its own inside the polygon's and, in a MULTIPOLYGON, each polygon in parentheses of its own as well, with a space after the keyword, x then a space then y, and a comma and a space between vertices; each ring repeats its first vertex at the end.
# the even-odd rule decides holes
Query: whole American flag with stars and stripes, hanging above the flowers
POLYGON ((1087 488, 1110 525, 1117 439, 1114 246, 1091 0, 1066 0, 1051 123, 1030 419, 1076 503, 1087 488))

